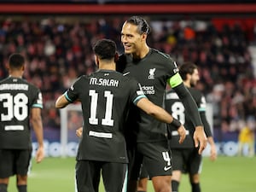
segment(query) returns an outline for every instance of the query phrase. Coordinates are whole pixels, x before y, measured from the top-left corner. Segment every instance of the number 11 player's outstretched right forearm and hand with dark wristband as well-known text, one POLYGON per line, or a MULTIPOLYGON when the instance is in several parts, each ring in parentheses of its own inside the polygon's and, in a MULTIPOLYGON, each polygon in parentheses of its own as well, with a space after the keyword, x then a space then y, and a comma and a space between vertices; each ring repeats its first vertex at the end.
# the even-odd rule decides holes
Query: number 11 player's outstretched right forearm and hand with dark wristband
POLYGON ((150 102, 146 97, 140 99, 137 102, 137 107, 141 108, 145 113, 148 113, 155 119, 159 119, 162 122, 174 125, 177 128, 177 132, 180 136, 179 143, 183 143, 186 137, 186 130, 184 126, 177 119, 172 118, 172 115, 167 113, 165 109, 160 108, 153 102, 150 102))

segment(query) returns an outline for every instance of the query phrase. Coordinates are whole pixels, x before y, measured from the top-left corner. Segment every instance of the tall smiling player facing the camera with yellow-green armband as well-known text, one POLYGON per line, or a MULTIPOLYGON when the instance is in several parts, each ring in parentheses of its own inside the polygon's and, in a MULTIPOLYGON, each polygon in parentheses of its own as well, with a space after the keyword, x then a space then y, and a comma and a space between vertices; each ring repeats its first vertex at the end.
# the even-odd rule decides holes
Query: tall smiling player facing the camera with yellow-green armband
MULTIPOLYGON (((182 99, 186 110, 193 116, 195 146, 198 147, 200 143, 199 153, 201 154, 207 146, 207 137, 195 101, 185 88, 175 61, 169 55, 148 47, 146 40, 149 32, 150 27, 147 21, 141 17, 133 16, 125 21, 121 31, 125 54, 119 56, 117 69, 137 79, 142 84, 148 99, 158 106, 163 106, 166 84, 171 85, 182 99)), ((170 192, 172 191, 170 185, 172 160, 166 124, 150 117, 140 109, 131 108, 131 111, 127 126, 133 131, 126 133, 131 135, 127 143, 133 154, 129 164, 128 191, 137 191, 137 179, 144 162, 149 177, 152 178, 154 190, 170 192), (134 138, 134 141, 131 141, 131 138, 134 138)))

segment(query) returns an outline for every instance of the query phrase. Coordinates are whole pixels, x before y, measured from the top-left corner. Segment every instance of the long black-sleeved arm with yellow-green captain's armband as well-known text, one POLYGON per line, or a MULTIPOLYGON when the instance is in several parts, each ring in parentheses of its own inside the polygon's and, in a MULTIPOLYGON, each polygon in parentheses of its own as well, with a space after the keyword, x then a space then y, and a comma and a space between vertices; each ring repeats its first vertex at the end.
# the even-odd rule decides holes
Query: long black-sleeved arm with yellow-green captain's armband
POLYGON ((199 147, 198 153, 201 154, 203 149, 207 147, 207 137, 204 131, 203 124, 201 122, 201 117, 198 113, 198 108, 195 100, 189 93, 189 90, 184 86, 183 80, 179 73, 173 75, 168 79, 168 83, 173 90, 176 91, 177 96, 183 102, 185 109, 188 111, 193 125, 195 126, 194 141, 195 148, 199 147))

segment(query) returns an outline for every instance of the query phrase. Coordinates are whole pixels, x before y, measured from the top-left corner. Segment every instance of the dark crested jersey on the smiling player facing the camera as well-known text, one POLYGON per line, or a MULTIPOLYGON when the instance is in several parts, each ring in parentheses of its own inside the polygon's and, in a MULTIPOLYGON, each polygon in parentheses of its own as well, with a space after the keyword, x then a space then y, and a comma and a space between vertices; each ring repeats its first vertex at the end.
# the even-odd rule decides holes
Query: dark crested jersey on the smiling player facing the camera
MULTIPOLYGON (((162 107, 166 90, 166 82, 177 73, 177 65, 169 55, 156 49, 150 49, 148 55, 141 60, 132 59, 131 55, 120 55, 117 64, 119 72, 137 79, 142 85, 144 94, 151 102, 162 107)), ((150 143, 166 140, 166 124, 132 108, 129 117, 132 134, 137 143, 150 143)))

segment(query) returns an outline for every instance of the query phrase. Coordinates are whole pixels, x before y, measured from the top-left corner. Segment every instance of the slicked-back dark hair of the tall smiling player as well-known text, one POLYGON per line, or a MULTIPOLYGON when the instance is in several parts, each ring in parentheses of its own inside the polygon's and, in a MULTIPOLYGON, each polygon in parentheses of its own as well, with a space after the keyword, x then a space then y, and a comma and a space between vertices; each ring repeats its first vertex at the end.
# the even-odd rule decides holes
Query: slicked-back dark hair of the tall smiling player
POLYGON ((146 20, 144 20, 142 17, 132 16, 128 20, 126 20, 126 22, 136 25, 137 32, 139 34, 143 34, 144 32, 146 34, 149 34, 149 32, 150 32, 150 26, 148 25, 148 22, 146 20))

